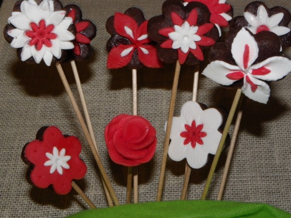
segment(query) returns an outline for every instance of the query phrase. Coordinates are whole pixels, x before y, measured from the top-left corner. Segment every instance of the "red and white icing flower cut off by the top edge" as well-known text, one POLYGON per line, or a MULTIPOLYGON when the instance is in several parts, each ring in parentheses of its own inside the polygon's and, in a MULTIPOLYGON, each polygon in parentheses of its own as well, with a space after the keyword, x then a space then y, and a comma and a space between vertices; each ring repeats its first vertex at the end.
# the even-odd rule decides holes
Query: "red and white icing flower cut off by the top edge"
POLYGON ((219 36, 221 36, 220 27, 227 27, 228 21, 232 19, 231 5, 226 4, 226 0, 184 0, 184 5, 193 1, 201 2, 208 7, 211 13, 210 22, 216 26, 219 36))

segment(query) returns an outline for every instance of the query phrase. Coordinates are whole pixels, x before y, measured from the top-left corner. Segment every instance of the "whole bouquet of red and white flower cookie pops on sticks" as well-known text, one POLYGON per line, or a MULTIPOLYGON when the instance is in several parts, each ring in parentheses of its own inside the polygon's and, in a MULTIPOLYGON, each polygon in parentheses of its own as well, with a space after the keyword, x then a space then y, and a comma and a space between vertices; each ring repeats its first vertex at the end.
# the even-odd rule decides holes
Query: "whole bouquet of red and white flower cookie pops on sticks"
MULTIPOLYGON (((219 157, 229 144, 227 139, 231 138, 224 180, 217 198, 222 199, 242 119, 242 93, 254 101, 266 104, 270 97, 269 81, 284 78, 291 71, 291 61, 283 54, 283 49, 291 46, 291 32, 288 28, 291 14, 288 10, 283 7, 269 9, 263 2, 256 1, 246 6, 243 16, 232 19, 232 11, 231 5, 224 0, 166 0, 162 5, 161 16, 146 20, 140 9, 129 8, 125 13, 116 12, 107 20, 106 29, 111 34, 106 45, 109 52, 107 67, 128 67, 132 70, 132 115, 121 111, 106 126, 104 132, 108 153, 113 162, 128 167, 127 203, 131 202, 132 181, 133 201, 138 202, 138 166, 151 160, 157 145, 155 128, 148 120, 137 115, 137 70, 144 66, 160 68, 173 62, 176 62, 175 76, 165 124, 162 167, 157 172, 160 180, 156 200, 162 201, 167 156, 174 161, 187 160, 180 200, 187 198, 191 169, 202 168, 213 159, 201 196, 205 200, 219 157), (221 29, 227 27, 229 21, 225 40, 219 42, 221 29), (206 51, 209 51, 210 63, 205 69, 199 69, 206 51), (193 98, 183 105, 180 116, 174 117, 182 64, 193 65, 193 98), (196 102, 199 71, 220 85, 237 89, 228 113, 196 102), (228 131, 237 110, 235 129, 230 137, 228 131), (210 156, 214 158, 209 158, 210 156)), ((42 0, 39 4, 34 0, 20 0, 16 2, 12 16, 8 18, 4 36, 12 47, 17 48, 17 56, 21 61, 40 63, 43 60, 48 66, 56 64, 97 162, 108 205, 119 205, 118 198, 123 196, 117 198, 99 157, 75 63, 86 60, 93 54, 90 42, 96 36, 95 25, 90 20, 82 19, 81 9, 76 5, 63 7, 59 0, 42 0), (61 67, 61 63, 66 61, 72 64, 86 123, 61 67)), ((22 157, 30 165, 28 173, 33 185, 40 188, 52 187, 57 194, 67 194, 73 187, 91 208, 96 208, 74 181, 83 178, 86 173, 86 165, 80 159, 80 153, 81 142, 78 138, 63 135, 57 127, 49 126, 42 127, 36 140, 25 145, 22 157)), ((215 205, 220 207, 225 202, 198 203, 213 208, 215 205)), ((146 209, 148 216, 164 206, 162 202, 157 205, 150 205, 146 209)), ((140 204, 114 207, 112 213, 116 215, 116 210, 128 210, 132 216, 133 211, 140 213, 138 206, 140 204)), ((220 213, 217 207, 216 212, 220 213)), ((229 207, 235 206, 231 204, 229 207)), ((236 216, 243 216, 244 212, 236 216)), ((99 216, 102 216, 103 212, 94 210, 92 213, 100 213, 99 216)), ((109 212, 106 213, 108 215, 109 212)), ((166 216, 168 211, 164 213, 159 216, 166 216)))

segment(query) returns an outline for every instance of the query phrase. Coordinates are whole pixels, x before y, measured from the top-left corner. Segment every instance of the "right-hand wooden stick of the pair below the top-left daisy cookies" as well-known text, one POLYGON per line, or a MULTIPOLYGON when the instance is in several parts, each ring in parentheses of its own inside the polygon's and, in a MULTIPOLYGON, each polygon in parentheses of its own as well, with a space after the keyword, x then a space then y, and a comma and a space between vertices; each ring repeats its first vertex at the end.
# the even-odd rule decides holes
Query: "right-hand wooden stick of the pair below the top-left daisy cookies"
MULTIPOLYGON (((96 149, 96 151, 97 151, 97 153, 99 155, 97 142, 96 142, 96 139, 95 139, 95 135, 94 135, 94 131, 93 131, 93 127, 92 127, 89 111, 88 111, 88 108, 87 108, 85 96, 84 96, 84 93, 83 93, 83 90, 82 90, 78 69, 77 69, 77 66, 76 66, 76 62, 74 60, 71 61, 71 66, 72 66, 72 69, 73 69, 73 73, 74 73, 74 77, 75 77, 75 80, 76 80, 78 92, 79 92, 79 95, 80 95, 81 104, 82 104, 82 108, 83 108, 83 111, 84 111, 84 115, 85 115, 86 123, 87 123, 87 126, 88 126, 88 130, 89 130, 91 139, 93 141, 94 147, 95 147, 95 149, 96 149)), ((104 183, 104 180, 103 180, 102 176, 101 176, 101 180, 102 180, 102 185, 104 187, 104 191, 105 191, 105 195, 106 195, 106 198, 107 198, 108 205, 110 207, 113 207, 113 202, 112 202, 110 193, 109 193, 108 188, 106 187, 106 185, 104 183)))

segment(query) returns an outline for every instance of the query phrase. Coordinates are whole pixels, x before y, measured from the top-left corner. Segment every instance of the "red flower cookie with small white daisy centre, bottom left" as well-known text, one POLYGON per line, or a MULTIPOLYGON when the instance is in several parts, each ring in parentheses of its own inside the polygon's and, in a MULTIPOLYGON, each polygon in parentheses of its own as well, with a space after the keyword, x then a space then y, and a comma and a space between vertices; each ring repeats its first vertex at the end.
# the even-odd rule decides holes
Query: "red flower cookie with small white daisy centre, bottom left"
POLYGON ((55 126, 43 127, 23 148, 24 162, 32 165, 29 177, 36 187, 52 185, 57 194, 70 192, 73 179, 82 179, 87 171, 80 159, 81 143, 75 136, 64 136, 55 126))

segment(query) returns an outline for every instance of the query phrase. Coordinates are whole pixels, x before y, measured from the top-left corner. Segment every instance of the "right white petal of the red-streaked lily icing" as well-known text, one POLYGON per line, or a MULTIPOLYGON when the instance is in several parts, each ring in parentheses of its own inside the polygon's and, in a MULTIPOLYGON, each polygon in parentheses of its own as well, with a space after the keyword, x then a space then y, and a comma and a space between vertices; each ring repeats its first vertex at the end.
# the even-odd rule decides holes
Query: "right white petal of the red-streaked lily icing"
POLYGON ((285 77, 289 72, 291 72, 291 60, 280 56, 271 57, 251 66, 250 69, 258 69, 260 67, 266 67, 271 70, 271 72, 266 75, 252 75, 253 77, 267 81, 275 81, 285 77))

